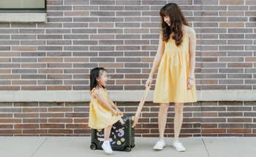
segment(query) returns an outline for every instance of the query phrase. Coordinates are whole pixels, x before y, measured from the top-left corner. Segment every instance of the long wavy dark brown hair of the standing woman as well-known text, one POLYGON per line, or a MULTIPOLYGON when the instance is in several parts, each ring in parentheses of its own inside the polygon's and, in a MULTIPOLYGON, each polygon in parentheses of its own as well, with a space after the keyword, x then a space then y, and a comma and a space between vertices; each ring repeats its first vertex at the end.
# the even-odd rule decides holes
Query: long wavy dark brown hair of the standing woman
POLYGON ((181 31, 182 24, 189 26, 180 7, 175 3, 166 4, 160 9, 159 15, 162 17, 162 40, 167 42, 170 39, 170 33, 174 33, 173 39, 176 46, 181 44, 183 33, 181 31), (170 17, 170 26, 165 23, 164 17, 170 17))

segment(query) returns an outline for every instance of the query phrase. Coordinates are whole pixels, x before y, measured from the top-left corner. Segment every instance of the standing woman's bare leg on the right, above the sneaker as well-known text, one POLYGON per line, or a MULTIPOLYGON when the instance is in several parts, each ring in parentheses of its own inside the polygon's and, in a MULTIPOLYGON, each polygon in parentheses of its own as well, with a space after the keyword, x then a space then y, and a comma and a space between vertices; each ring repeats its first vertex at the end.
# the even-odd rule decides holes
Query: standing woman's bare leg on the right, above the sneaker
POLYGON ((184 103, 175 103, 175 116, 174 116, 174 141, 178 140, 178 136, 181 132, 181 126, 183 122, 183 107, 184 103))

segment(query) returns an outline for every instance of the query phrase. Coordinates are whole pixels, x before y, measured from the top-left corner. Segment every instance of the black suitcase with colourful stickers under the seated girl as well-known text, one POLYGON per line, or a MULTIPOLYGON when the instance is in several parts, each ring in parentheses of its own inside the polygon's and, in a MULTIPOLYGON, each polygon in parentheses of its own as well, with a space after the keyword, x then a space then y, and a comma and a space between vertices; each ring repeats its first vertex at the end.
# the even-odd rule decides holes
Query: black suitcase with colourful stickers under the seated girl
MULTIPOLYGON (((135 128, 132 127, 133 115, 124 114, 124 124, 113 124, 110 132, 110 145, 113 150, 131 151, 135 147, 135 128)), ((102 149, 104 129, 91 129, 91 150, 102 149)))

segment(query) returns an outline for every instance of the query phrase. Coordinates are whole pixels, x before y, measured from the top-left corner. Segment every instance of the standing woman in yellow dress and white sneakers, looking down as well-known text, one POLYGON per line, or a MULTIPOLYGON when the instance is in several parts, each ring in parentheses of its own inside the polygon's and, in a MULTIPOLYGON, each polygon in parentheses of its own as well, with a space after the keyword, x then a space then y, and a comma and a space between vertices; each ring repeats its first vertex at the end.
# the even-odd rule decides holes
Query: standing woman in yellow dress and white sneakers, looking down
POLYGON ((169 103, 174 102, 174 140, 173 147, 185 151, 178 141, 183 121, 185 102, 197 102, 195 88, 195 47, 196 36, 193 28, 177 4, 169 3, 159 12, 162 17, 162 32, 159 36, 157 55, 146 86, 151 86, 158 68, 153 102, 159 103, 158 125, 159 140, 155 150, 165 147, 164 132, 169 103))

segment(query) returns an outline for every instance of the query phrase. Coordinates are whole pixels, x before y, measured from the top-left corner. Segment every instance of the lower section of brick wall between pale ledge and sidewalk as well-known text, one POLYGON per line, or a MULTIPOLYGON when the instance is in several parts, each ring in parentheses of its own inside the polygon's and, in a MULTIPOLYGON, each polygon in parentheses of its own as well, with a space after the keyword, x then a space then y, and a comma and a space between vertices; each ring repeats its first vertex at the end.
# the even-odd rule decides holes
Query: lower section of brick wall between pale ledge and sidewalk
MULTIPOLYGON (((118 102, 124 113, 135 113, 138 102, 118 102)), ((88 102, 1 102, 0 135, 89 136, 88 102)), ((147 102, 136 136, 157 137, 158 105, 147 102)), ((184 107, 181 137, 255 136, 255 102, 197 102, 184 107)), ((173 136, 173 104, 165 136, 173 136)))

